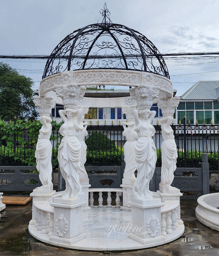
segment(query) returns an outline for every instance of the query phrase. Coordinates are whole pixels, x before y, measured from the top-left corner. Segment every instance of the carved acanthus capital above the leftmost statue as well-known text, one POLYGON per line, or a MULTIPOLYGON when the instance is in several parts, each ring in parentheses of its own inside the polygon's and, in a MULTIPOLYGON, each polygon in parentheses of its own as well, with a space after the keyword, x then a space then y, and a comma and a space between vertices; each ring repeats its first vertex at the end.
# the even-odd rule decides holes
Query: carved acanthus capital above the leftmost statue
POLYGON ((33 97, 40 116, 50 116, 52 108, 56 105, 54 97, 33 97))

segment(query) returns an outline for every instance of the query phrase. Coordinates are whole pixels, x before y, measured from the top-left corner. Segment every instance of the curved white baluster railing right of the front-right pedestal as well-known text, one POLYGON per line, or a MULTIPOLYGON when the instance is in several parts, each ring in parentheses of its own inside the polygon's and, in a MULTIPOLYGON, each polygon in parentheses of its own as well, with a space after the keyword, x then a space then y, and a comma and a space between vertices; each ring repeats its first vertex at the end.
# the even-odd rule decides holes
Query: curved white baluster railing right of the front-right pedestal
POLYGON ((165 200, 165 205, 161 207, 161 235, 172 234, 178 226, 177 207, 180 205, 178 200, 165 200))

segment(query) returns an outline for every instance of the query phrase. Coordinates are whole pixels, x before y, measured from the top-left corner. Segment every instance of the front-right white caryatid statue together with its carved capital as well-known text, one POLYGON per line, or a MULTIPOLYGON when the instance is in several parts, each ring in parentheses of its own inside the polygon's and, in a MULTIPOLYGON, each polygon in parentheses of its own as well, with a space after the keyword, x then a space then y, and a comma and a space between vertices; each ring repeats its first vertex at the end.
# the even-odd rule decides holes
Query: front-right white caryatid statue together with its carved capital
POLYGON ((134 130, 138 135, 135 146, 136 168, 138 171, 133 193, 136 198, 152 199, 149 183, 153 177, 157 162, 157 149, 152 136, 155 134, 154 126, 151 124, 156 111, 151 111, 154 98, 158 98, 160 87, 140 85, 129 89, 130 96, 136 99, 138 110, 134 110, 134 130))

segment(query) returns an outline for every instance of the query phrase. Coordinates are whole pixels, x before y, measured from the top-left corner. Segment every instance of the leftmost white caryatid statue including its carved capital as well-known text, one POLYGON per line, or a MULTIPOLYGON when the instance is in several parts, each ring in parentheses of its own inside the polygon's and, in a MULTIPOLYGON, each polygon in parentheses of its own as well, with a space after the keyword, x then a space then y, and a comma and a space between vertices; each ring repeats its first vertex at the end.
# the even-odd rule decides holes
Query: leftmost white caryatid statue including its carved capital
POLYGON ((55 107, 55 100, 53 97, 33 97, 34 104, 38 108, 40 114, 40 122, 42 127, 39 130, 38 141, 36 144, 36 169, 39 171, 39 179, 42 183, 38 189, 43 189, 44 186, 51 186, 52 184, 52 145, 50 136, 52 133, 52 119, 50 113, 55 107))

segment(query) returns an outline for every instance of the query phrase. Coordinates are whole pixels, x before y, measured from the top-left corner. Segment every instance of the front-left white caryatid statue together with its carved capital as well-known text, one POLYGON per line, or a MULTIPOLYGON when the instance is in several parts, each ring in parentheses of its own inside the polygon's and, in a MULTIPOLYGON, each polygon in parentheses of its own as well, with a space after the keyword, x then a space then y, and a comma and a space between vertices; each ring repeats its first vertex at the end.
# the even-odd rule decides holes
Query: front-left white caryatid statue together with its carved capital
POLYGON ((65 110, 59 110, 64 120, 59 132, 63 136, 58 149, 58 161, 66 189, 62 198, 77 198, 82 192, 78 171, 81 159, 81 144, 77 139, 84 126, 81 123, 83 110, 78 109, 79 100, 85 94, 86 88, 76 84, 56 85, 56 94, 61 97, 65 110))

